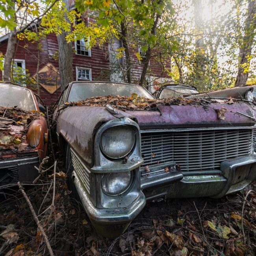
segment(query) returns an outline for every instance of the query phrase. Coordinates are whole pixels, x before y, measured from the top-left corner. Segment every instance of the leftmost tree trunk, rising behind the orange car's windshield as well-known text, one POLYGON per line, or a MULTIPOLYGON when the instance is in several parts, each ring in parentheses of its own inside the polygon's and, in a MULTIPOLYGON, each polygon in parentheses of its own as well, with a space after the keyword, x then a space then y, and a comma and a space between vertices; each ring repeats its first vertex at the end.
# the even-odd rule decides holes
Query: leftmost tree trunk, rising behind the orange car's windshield
POLYGON ((10 32, 6 54, 4 56, 4 82, 11 81, 11 63, 15 55, 15 46, 17 44, 16 29, 10 32))

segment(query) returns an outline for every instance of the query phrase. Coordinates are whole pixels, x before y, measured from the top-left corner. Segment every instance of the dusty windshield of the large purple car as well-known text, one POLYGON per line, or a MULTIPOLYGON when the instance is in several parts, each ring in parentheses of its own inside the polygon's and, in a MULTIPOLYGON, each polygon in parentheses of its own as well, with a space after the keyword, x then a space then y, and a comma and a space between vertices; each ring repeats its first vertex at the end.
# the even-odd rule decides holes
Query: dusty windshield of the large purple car
POLYGON ((148 91, 140 86, 121 83, 73 83, 69 92, 68 102, 84 100, 86 98, 107 95, 131 96, 137 93, 143 98, 153 99, 148 91))

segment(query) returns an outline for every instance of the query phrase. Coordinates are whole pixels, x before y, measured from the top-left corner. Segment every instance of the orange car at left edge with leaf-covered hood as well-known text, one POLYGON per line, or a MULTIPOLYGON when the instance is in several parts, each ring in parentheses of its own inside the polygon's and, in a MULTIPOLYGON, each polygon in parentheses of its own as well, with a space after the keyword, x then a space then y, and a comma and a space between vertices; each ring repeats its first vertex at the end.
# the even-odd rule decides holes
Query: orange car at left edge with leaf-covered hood
POLYGON ((0 83, 0 186, 32 182, 47 149, 48 127, 33 92, 0 83))

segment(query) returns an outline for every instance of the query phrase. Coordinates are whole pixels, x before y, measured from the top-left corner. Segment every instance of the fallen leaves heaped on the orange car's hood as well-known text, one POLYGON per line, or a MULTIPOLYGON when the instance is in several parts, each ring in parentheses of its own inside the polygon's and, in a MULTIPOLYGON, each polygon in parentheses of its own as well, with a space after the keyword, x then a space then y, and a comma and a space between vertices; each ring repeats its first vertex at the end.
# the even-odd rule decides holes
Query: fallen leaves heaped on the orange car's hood
POLYGON ((0 154, 9 149, 21 152, 29 147, 26 140, 28 125, 38 117, 37 112, 0 106, 0 154))

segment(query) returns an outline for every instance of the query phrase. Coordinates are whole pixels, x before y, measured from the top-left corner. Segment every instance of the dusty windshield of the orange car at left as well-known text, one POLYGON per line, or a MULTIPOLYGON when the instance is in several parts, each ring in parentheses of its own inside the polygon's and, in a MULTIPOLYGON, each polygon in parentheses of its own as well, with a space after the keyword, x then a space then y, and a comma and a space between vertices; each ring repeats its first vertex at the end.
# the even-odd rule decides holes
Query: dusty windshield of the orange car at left
POLYGON ((29 90, 13 85, 0 83, 0 106, 19 107, 24 110, 36 110, 29 90))

